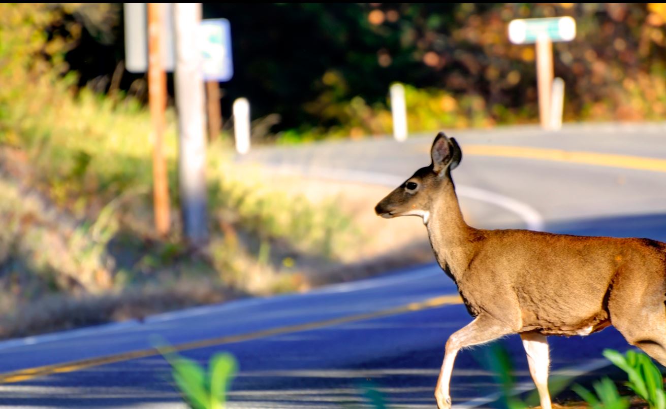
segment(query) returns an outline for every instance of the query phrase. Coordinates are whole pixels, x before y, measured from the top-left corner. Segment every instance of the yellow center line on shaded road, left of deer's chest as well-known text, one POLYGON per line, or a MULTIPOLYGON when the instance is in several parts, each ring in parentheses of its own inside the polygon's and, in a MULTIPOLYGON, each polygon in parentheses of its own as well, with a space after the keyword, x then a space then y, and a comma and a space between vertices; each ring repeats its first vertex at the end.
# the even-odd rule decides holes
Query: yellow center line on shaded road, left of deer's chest
MULTIPOLYGON (((216 346, 220 344, 230 344, 232 342, 249 341, 252 339, 259 339, 264 337, 271 337, 274 335, 282 335, 286 333, 296 333, 299 331, 307 331, 310 329, 318 329, 322 327, 330 327, 331 325, 340 325, 351 323, 354 321, 364 321, 367 319, 375 319, 381 317, 388 317, 390 315, 398 315, 402 313, 410 313, 412 311, 420 311, 435 307, 442 307, 443 305, 462 304, 462 299, 459 295, 443 295, 441 297, 434 297, 421 301, 418 303, 410 303, 401 307, 386 309, 383 311, 376 311, 374 313, 365 313, 357 315, 349 315, 347 317, 339 317, 326 319, 322 321, 315 321, 313 323, 287 325, 285 327, 278 327, 273 329, 266 329, 262 331, 255 331, 253 333, 230 335, 226 337, 216 337, 212 339, 204 339, 201 341, 184 342, 170 347, 173 351, 190 350, 196 348, 204 348, 207 346, 216 346)), ((115 362, 123 362, 126 360, 146 358, 148 356, 157 356, 160 352, 156 348, 148 348, 143 350, 134 350, 130 352, 123 352, 121 354, 113 354, 108 356, 101 356, 99 358, 89 358, 76 360, 73 362, 65 362, 63 364, 54 364, 47 366, 37 366, 35 368, 27 368, 17 370, 14 372, 7 372, 0 374, 0 384, 8 384, 13 382, 21 382, 38 378, 39 376, 47 376, 50 374, 74 372, 77 370, 90 368, 91 366, 100 366, 105 364, 113 364, 115 362)))

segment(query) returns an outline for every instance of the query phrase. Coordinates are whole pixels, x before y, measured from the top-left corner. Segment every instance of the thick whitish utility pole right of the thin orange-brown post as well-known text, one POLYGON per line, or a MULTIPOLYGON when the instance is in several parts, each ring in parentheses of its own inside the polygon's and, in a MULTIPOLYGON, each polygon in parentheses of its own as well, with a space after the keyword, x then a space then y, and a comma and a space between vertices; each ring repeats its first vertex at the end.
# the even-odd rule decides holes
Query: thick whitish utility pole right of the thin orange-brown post
POLYGON ((206 137, 202 55, 197 43, 201 3, 174 3, 178 176, 184 234, 195 246, 208 240, 206 137))

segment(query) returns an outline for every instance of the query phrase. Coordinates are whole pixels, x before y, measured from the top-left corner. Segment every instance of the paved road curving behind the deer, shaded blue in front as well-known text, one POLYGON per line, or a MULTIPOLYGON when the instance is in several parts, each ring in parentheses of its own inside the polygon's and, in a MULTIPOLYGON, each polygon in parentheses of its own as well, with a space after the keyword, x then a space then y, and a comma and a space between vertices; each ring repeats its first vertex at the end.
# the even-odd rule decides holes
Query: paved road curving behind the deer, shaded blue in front
MULTIPOLYGON (((256 149, 244 160, 388 185, 428 164, 432 136, 404 144, 372 140, 256 149)), ((666 241, 666 173, 659 168, 666 164, 663 125, 571 126, 563 132, 507 128, 450 136, 463 146, 454 179, 474 225, 666 241)), ((232 408, 354 407, 362 403, 360 382, 366 380, 396 407, 432 408, 444 342, 469 321, 452 282, 430 265, 304 295, 0 342, 0 406, 182 407, 165 360, 150 350, 151 335, 159 334, 200 362, 220 351, 238 358, 232 408)), ((529 385, 519 339, 502 342, 519 381, 529 385)), ((585 339, 552 339, 553 370, 598 369, 605 347, 627 346, 613 329, 585 339)), ((490 406, 497 389, 485 362, 488 348, 459 355, 454 405, 490 406)))

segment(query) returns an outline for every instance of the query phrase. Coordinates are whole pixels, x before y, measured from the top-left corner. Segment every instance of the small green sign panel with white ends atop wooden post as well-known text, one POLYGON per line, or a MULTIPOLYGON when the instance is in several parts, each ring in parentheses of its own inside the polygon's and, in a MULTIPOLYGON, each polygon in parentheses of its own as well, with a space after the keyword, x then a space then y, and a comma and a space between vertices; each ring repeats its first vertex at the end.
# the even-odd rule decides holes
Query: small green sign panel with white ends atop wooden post
POLYGON ((509 23, 513 44, 533 44, 539 37, 550 41, 571 41, 576 37, 576 22, 571 17, 519 19, 509 23))

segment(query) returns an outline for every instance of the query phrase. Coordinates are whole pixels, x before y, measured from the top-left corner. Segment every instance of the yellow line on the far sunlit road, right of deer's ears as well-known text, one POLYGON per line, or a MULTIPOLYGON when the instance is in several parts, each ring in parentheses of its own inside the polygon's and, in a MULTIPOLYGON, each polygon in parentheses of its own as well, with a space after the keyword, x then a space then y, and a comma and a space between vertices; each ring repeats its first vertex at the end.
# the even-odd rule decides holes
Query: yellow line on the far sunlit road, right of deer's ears
MULTIPOLYGON (((428 152, 430 152, 430 148, 428 148, 428 152)), ((505 158, 549 160, 551 162, 568 162, 594 166, 609 166, 611 168, 666 172, 666 159, 646 158, 643 156, 501 145, 463 145, 462 152, 463 155, 473 156, 501 156, 505 158)))

